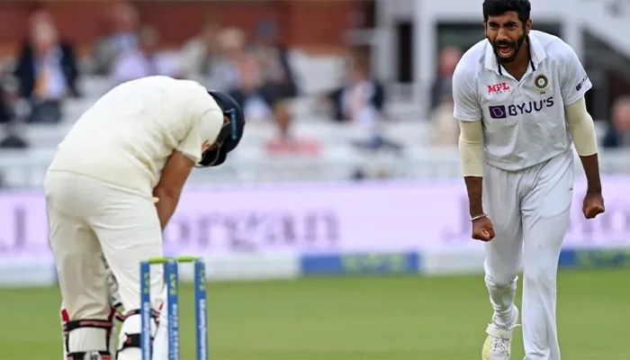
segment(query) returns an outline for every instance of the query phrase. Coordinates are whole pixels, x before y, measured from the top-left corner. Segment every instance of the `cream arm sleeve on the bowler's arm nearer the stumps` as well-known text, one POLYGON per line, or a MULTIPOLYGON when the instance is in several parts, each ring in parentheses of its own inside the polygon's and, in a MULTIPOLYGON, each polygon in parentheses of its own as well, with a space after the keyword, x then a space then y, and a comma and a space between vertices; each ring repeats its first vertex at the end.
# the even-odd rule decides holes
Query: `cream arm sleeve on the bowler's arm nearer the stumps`
POLYGON ((464 176, 483 177, 482 121, 459 121, 459 157, 464 176))

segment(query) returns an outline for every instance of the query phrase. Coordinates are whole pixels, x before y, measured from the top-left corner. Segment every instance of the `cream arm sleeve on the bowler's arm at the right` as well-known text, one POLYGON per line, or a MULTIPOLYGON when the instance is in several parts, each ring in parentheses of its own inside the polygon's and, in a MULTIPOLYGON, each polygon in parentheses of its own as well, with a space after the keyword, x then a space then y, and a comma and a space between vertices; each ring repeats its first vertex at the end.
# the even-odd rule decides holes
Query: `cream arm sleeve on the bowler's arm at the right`
POLYGON ((573 137, 573 144, 581 157, 598 153, 598 140, 595 135, 595 124, 586 110, 586 102, 580 100, 564 107, 566 121, 573 137))

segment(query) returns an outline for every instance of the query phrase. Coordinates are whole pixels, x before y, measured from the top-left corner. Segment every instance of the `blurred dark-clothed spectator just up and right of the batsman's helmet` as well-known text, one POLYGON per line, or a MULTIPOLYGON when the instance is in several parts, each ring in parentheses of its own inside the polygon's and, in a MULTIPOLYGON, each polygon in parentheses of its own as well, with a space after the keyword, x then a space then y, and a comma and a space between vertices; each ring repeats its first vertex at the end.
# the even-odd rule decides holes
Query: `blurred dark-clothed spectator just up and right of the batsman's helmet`
POLYGON ((297 85, 275 23, 265 20, 258 24, 255 54, 262 74, 260 94, 272 109, 274 118, 291 117, 290 107, 298 93, 297 85))

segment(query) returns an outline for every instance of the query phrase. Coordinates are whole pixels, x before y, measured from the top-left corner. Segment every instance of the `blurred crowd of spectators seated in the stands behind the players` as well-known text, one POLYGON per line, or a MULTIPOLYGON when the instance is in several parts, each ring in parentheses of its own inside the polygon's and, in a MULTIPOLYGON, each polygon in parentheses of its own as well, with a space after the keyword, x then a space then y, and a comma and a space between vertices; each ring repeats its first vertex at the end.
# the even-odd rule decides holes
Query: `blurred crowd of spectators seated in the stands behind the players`
MULTIPOLYGON (((245 32, 223 26, 219 17, 209 16, 181 49, 165 50, 160 33, 140 21, 133 5, 113 4, 110 21, 111 33, 94 43, 89 66, 83 66, 75 45, 58 33, 49 13, 37 11, 31 15, 29 38, 23 41, 14 62, 1 69, 0 122, 5 124, 5 131, 0 147, 29 146, 14 131, 15 123, 62 121, 63 103, 84 95, 79 85, 81 76, 107 76, 111 85, 117 85, 143 76, 166 75, 193 79, 231 94, 243 106, 248 121, 273 122, 277 136, 266 144, 266 151, 314 156, 320 152, 318 139, 292 133, 291 105, 302 94, 289 49, 280 40, 274 22, 261 20, 249 39, 245 32)), ((432 143, 454 147, 459 129, 452 115, 451 77, 462 49, 446 47, 438 56, 437 79, 430 86, 432 143)), ((371 73, 369 53, 350 51, 342 85, 329 94, 320 94, 319 104, 329 111, 331 120, 374 128, 374 135, 358 146, 400 149, 400 144, 383 139, 377 130, 378 124, 388 119, 384 110, 387 94, 371 73)), ((630 97, 617 100, 611 117, 603 145, 630 146, 630 97)))

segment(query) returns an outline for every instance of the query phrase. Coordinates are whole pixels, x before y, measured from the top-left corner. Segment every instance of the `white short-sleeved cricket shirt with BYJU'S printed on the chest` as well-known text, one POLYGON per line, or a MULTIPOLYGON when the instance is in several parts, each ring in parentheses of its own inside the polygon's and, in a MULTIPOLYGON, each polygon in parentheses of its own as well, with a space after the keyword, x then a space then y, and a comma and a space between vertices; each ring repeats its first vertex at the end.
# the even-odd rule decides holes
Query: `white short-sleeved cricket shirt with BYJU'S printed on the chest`
POLYGON ((560 38, 530 31, 532 62, 517 81, 502 68, 489 40, 466 51, 455 69, 455 119, 482 121, 487 164, 508 171, 535 166, 571 148, 564 106, 589 91, 573 49, 560 38))

